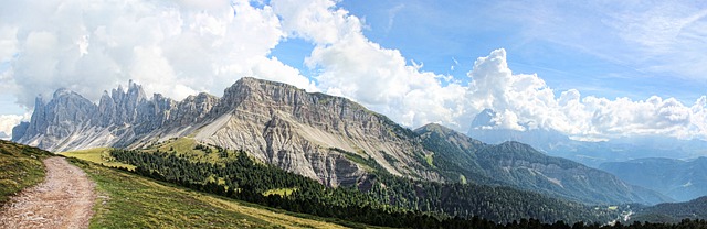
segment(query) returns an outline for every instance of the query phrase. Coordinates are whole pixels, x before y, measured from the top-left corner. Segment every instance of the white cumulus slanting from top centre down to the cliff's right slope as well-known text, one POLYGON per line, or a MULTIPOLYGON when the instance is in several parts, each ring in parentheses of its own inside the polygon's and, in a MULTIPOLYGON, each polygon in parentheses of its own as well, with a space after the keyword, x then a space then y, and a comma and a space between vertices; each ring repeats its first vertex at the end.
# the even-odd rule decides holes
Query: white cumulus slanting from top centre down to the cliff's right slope
POLYGON ((361 20, 328 0, 276 0, 289 36, 315 44, 305 64, 316 69, 317 87, 352 98, 409 127, 442 122, 467 127, 464 87, 444 76, 420 70, 397 50, 381 47, 362 33, 361 20))

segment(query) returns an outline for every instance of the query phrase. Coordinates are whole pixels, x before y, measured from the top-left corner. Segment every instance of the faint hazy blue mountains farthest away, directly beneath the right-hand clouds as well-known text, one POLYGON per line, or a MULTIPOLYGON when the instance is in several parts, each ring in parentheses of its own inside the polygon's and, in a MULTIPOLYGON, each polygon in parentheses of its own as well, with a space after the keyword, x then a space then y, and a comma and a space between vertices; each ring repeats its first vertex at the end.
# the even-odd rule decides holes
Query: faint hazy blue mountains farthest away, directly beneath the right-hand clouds
POLYGON ((518 123, 525 131, 498 127, 493 120, 496 112, 486 109, 479 112, 467 135, 487 143, 518 141, 546 152, 582 164, 599 167, 605 162, 623 162, 633 159, 671 156, 671 159, 694 159, 707 155, 707 141, 680 140, 669 137, 644 135, 624 137, 606 141, 579 141, 552 130, 530 128, 518 123))

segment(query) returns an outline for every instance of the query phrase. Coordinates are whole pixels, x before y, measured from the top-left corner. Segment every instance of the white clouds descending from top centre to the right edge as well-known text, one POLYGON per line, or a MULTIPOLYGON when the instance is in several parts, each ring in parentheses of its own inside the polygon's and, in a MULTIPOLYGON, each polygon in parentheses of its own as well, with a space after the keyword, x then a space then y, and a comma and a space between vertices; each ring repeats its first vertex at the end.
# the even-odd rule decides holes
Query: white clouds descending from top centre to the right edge
POLYGON ((659 97, 645 101, 582 98, 576 89, 556 97, 537 75, 514 75, 505 50, 479 57, 468 73, 468 85, 422 72, 397 50, 369 41, 360 20, 335 3, 283 0, 273 1, 273 9, 289 36, 315 44, 305 63, 316 69, 319 89, 352 98, 405 126, 441 122, 465 131, 477 112, 490 108, 497 111, 493 120, 497 128, 556 129, 576 139, 707 135, 707 124, 697 124, 701 121, 694 118, 707 116, 700 110, 705 106, 688 108, 659 97))

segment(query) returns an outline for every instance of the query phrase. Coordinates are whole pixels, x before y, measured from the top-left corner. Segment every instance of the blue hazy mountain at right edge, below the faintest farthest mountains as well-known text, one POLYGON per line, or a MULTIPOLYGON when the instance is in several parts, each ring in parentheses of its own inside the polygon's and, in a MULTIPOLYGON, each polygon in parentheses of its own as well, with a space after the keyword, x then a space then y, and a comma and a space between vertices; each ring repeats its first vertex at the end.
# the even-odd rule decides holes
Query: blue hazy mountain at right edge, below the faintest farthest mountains
POLYGON ((707 195, 707 157, 693 161, 674 159, 640 159, 608 162, 601 170, 627 183, 651 187, 679 201, 707 195))

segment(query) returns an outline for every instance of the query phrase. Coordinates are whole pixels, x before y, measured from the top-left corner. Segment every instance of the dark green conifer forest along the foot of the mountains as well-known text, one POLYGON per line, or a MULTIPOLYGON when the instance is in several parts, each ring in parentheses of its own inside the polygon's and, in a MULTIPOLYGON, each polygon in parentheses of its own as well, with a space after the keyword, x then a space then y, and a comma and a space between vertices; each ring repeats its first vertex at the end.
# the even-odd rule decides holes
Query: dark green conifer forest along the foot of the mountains
MULTIPOLYGON (((135 165, 143 176, 196 190, 367 225, 402 228, 600 228, 619 215, 541 194, 500 186, 441 184, 374 172, 359 186, 327 187, 317 181, 256 162, 243 151, 198 144, 220 163, 184 154, 113 150, 110 156, 135 165), (288 190, 288 192, 287 192, 288 190), (587 223, 584 223, 587 222, 587 223)), ((704 220, 676 225, 634 222, 604 228, 699 228, 704 220)))

